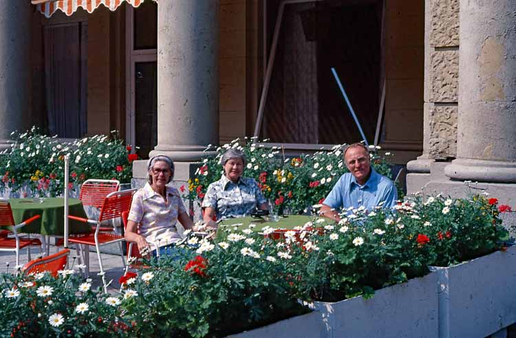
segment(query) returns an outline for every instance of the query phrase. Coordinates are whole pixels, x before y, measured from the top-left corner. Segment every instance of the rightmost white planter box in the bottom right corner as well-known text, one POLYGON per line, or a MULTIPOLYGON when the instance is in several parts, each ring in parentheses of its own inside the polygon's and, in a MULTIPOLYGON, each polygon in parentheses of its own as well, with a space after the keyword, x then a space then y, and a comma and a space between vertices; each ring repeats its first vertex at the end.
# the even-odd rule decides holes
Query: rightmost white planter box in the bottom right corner
POLYGON ((449 268, 439 279, 439 337, 486 337, 516 321, 516 247, 449 268))

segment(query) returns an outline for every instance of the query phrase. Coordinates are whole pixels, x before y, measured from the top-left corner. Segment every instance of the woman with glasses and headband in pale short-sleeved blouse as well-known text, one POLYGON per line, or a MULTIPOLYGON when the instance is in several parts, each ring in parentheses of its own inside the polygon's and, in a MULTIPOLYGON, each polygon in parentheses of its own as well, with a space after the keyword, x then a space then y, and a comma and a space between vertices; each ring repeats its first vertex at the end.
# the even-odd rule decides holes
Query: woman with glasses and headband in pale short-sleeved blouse
POLYGON ((169 245, 182 239, 175 224, 179 221, 184 229, 192 229, 193 222, 178 189, 166 187, 174 176, 172 160, 153 156, 147 162, 147 172, 148 182, 133 196, 125 239, 136 242, 140 252, 160 248, 160 255, 171 254, 169 245))

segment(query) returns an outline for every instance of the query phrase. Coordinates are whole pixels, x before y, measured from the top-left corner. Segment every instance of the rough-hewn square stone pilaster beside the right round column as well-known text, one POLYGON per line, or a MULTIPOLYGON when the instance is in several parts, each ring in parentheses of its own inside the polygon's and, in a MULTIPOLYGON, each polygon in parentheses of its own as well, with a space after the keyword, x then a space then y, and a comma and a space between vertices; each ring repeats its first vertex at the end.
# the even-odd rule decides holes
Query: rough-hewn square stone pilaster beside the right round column
POLYGON ((407 192, 420 191, 455 158, 458 114, 459 1, 425 1, 423 154, 407 163, 407 192), (433 170, 432 170, 433 169, 433 170))

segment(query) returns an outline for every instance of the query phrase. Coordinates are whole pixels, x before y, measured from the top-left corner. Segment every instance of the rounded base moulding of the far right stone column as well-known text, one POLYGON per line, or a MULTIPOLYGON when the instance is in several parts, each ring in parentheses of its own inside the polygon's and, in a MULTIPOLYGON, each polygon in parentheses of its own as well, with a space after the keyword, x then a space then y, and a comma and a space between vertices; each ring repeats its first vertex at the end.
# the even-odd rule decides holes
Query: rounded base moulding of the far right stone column
POLYGON ((453 180, 516 183, 516 162, 458 158, 444 173, 453 180))

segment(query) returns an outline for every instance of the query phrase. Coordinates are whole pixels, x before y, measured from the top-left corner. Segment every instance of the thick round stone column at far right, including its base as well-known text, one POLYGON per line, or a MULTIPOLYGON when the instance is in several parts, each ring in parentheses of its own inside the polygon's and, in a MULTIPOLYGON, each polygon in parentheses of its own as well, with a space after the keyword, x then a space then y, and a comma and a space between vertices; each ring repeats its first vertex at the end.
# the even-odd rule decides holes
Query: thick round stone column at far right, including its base
POLYGON ((445 169, 453 180, 516 182, 515 13, 514 0, 460 1, 458 158, 445 169))

